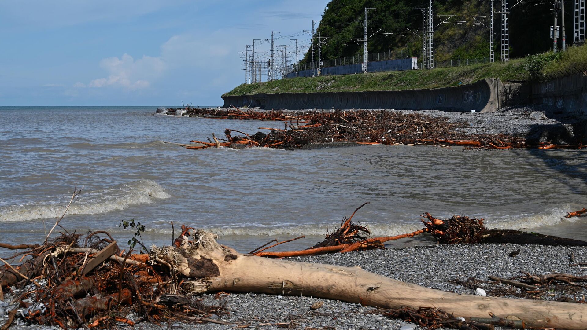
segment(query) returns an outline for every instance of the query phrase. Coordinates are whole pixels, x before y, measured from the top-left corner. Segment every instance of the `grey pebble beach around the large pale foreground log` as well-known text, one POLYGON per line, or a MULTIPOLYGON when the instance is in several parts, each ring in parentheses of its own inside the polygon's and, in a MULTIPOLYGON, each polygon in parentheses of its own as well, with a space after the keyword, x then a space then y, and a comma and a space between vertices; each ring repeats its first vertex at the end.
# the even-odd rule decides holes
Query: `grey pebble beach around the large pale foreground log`
MULTIPOLYGON (((587 262, 587 247, 549 247, 544 245, 517 244, 465 244, 429 245, 424 247, 390 248, 389 250, 357 251, 345 254, 325 254, 310 257, 287 258, 292 261, 321 262, 342 266, 356 266, 364 270, 396 280, 411 282, 428 288, 460 294, 475 294, 483 289, 488 296, 515 297, 523 294, 521 289, 488 281, 488 275, 511 278, 522 275, 564 272, 587 275, 587 268, 571 266, 569 255, 575 254, 576 262, 587 262), (515 257, 508 257, 511 251, 520 249, 515 257), (453 280, 457 280, 454 281, 453 280), (467 280, 470 280, 467 282, 467 280)), ((540 299, 570 297, 584 299, 585 288, 559 285, 545 290, 540 299), (564 290, 573 289, 570 292, 564 290)), ((419 326, 401 320, 386 318, 375 308, 360 304, 320 299, 315 297, 290 297, 266 294, 203 295, 205 304, 226 304, 229 313, 219 315, 218 321, 249 328, 282 329, 275 324, 291 323, 295 329, 390 329, 416 330, 419 326), (321 308, 311 310, 312 304, 323 301, 321 308), (273 324, 273 325, 269 325, 273 324)), ((6 302, 0 308, 6 311, 6 302)), ((0 315, 0 318, 6 316, 0 315)), ((0 321, 1 323, 1 321, 0 321)), ((21 322, 22 323, 22 322, 21 322)), ((158 328, 148 323, 135 326, 137 329, 158 328)), ((174 322, 164 324, 169 329, 234 329, 232 325, 184 324, 174 322)), ((13 325, 11 329, 46 330, 46 326, 13 325)))

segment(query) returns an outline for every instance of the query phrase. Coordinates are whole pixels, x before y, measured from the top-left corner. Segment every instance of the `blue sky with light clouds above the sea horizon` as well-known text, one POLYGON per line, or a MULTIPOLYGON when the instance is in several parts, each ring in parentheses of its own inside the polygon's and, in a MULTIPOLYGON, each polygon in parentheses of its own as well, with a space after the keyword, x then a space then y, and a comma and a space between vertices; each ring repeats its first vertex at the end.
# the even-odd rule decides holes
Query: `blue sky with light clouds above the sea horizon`
POLYGON ((221 105, 246 44, 303 45, 328 2, 4 0, 0 106, 221 105))

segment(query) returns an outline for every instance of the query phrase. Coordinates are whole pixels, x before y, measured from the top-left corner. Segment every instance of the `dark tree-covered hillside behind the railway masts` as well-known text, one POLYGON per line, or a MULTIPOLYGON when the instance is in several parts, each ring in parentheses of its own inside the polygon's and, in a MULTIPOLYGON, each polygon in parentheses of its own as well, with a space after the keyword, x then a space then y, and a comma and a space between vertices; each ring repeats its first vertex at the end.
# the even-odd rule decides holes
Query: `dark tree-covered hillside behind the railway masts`
MULTIPOLYGON (((423 15, 419 9, 430 5, 423 0, 332 0, 327 5, 318 30, 322 37, 328 37, 322 48, 323 59, 338 59, 339 56, 362 55, 362 47, 356 44, 342 45, 340 42, 349 42, 349 38, 362 38, 363 26, 360 22, 364 18, 365 7, 375 8, 367 15, 369 27, 385 28, 389 33, 410 33, 404 28, 421 28, 423 15)), ((495 12, 501 11, 500 1, 494 1, 495 12)), ((572 39, 572 2, 566 2, 566 35, 572 39)), ((552 6, 549 4, 533 6, 518 5, 511 9, 510 14, 510 56, 522 57, 528 54, 544 52, 552 47, 549 39, 549 29, 552 25, 552 6)), ((490 0, 447 0, 434 1, 434 45, 436 60, 461 58, 480 58, 489 56, 490 43, 490 0), (442 23, 441 19, 456 15, 450 21, 464 21, 464 23, 442 23), (487 16, 478 18, 483 24, 478 24, 470 16, 487 16), (484 26, 485 25, 485 26, 484 26)), ((494 42, 495 57, 499 59, 501 39, 501 15, 494 15, 494 42)), ((559 19, 560 22, 560 19, 559 19)), ((421 58, 422 41, 416 35, 402 36, 373 35, 369 29, 370 53, 388 52, 389 50, 404 50, 409 46, 411 56, 421 58)), ((380 33, 383 33, 381 31, 380 33)), ((419 30, 421 33, 421 29, 419 30)), ((570 42, 569 42, 570 43, 570 42)), ((309 53, 302 62, 307 62, 309 53)))

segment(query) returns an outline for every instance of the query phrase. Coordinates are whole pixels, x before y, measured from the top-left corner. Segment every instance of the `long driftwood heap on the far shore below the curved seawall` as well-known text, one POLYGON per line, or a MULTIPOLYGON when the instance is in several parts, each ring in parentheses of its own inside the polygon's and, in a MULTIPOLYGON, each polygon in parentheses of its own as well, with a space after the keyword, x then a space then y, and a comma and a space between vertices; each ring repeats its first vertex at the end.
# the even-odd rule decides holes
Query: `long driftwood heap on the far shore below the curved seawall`
POLYGON ((450 122, 447 117, 432 117, 420 113, 403 113, 389 110, 332 110, 287 112, 285 110, 255 111, 233 109, 193 109, 190 116, 211 119, 254 119, 284 122, 283 128, 259 127, 265 132, 245 133, 226 129, 225 138, 212 134, 208 142, 179 144, 187 149, 210 147, 271 147, 298 149, 305 144, 359 143, 409 144, 424 146, 465 146, 481 149, 575 149, 581 148, 578 140, 572 145, 549 142, 530 142, 524 137, 506 134, 466 134, 462 129, 467 122, 450 122))

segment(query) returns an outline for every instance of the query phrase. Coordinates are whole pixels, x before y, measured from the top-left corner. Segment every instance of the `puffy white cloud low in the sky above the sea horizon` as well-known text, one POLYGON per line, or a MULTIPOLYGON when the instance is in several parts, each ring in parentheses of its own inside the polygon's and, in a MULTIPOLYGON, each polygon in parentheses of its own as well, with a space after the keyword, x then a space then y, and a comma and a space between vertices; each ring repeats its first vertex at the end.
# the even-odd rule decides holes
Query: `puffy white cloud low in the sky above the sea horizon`
MULTIPOLYGON (((129 54, 121 58, 105 58, 100 61, 100 68, 109 73, 107 78, 97 78, 90 81, 87 87, 122 87, 124 89, 143 89, 150 86, 150 79, 157 78, 167 68, 160 57, 143 56, 134 60, 129 54)), ((73 87, 86 87, 77 82, 73 87)))

